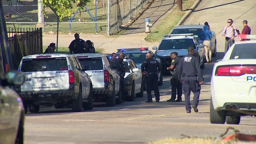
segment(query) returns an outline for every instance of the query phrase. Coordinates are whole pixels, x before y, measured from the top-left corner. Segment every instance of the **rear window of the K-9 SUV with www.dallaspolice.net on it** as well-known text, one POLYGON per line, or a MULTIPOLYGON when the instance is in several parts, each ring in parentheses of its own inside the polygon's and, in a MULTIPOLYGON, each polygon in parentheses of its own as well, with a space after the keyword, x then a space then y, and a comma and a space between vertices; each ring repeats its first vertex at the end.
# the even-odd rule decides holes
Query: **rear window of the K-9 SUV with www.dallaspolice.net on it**
POLYGON ((22 60, 21 71, 23 72, 60 71, 60 70, 68 70, 66 57, 22 60))

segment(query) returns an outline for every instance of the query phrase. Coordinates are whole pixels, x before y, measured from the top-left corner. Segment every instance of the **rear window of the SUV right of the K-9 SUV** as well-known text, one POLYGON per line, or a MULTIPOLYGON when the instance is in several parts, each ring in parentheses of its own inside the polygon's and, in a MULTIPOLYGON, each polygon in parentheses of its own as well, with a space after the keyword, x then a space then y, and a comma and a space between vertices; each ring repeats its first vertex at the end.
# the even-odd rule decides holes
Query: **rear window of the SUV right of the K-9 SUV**
POLYGON ((91 70, 103 70, 102 60, 100 58, 79 58, 84 66, 90 66, 91 70))

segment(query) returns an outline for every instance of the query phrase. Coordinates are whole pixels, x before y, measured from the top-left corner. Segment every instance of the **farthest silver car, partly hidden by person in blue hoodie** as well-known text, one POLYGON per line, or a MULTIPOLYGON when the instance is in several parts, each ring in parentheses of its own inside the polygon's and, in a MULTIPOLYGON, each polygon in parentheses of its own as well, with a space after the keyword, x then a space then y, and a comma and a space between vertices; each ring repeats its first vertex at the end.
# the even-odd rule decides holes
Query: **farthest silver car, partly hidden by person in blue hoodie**
MULTIPOLYGON (((170 34, 184 34, 184 33, 193 33, 193 35, 198 39, 200 43, 203 43, 202 36, 199 37, 198 35, 204 31, 203 29, 204 25, 180 25, 173 28, 172 32, 170 34)), ((216 34, 214 31, 212 31, 212 57, 216 57, 217 55, 217 40, 216 40, 216 34)))

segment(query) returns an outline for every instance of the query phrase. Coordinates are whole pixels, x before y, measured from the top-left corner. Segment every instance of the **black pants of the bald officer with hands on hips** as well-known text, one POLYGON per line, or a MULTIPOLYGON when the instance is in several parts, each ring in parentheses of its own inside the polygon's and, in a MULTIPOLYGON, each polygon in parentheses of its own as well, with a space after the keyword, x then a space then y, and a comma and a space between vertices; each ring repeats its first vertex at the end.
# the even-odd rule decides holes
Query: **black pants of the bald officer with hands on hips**
POLYGON ((160 100, 160 94, 158 90, 158 75, 155 74, 149 74, 146 77, 146 91, 147 91, 147 100, 152 101, 152 95, 151 90, 154 89, 154 94, 156 97, 156 100, 160 100))

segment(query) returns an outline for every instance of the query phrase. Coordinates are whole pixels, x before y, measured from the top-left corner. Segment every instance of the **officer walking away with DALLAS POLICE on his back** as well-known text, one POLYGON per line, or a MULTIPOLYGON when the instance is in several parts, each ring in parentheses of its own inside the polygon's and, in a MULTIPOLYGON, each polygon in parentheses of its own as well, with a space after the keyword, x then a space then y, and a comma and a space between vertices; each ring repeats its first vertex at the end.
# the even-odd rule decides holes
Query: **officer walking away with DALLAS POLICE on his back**
POLYGON ((194 56, 195 50, 193 47, 188 47, 188 54, 181 58, 178 66, 178 79, 182 83, 182 88, 185 92, 185 104, 187 113, 191 113, 190 106, 190 91, 194 93, 193 109, 198 112, 197 106, 201 84, 203 83, 203 74, 199 67, 198 58, 194 56))

